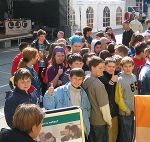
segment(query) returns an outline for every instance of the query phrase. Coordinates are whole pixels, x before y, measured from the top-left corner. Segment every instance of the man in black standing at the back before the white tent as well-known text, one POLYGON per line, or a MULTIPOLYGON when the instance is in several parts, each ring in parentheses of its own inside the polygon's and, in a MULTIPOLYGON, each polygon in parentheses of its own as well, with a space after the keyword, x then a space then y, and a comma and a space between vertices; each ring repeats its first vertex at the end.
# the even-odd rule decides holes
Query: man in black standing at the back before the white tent
POLYGON ((129 26, 129 21, 124 21, 123 22, 123 36, 122 36, 122 44, 126 45, 129 47, 129 42, 131 41, 131 37, 133 35, 133 30, 129 26))

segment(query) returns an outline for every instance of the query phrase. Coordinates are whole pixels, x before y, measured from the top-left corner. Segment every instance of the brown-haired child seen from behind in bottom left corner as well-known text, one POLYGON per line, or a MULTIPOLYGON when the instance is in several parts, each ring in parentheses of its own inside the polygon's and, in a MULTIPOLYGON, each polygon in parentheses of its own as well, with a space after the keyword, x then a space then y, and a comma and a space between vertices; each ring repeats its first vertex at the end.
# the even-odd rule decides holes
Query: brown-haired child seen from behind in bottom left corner
POLYGON ((13 116, 13 128, 3 128, 0 132, 0 141, 36 142, 34 139, 40 133, 43 118, 44 113, 37 105, 20 105, 13 116))

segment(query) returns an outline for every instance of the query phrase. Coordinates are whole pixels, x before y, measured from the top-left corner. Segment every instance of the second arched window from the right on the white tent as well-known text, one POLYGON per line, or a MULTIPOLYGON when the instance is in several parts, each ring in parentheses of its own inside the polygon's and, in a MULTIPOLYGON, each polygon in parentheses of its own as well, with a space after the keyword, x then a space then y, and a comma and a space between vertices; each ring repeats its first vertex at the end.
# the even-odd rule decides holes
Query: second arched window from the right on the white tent
POLYGON ((110 26, 110 10, 106 6, 103 10, 103 27, 110 26))

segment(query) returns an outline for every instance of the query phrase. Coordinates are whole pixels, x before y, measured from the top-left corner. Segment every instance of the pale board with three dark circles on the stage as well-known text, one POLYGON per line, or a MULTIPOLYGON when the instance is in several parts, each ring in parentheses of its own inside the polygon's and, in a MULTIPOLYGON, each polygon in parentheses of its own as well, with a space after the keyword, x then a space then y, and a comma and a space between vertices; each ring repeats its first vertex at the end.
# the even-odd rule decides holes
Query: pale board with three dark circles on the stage
POLYGON ((31 31, 31 20, 8 20, 5 21, 5 34, 26 34, 31 31))

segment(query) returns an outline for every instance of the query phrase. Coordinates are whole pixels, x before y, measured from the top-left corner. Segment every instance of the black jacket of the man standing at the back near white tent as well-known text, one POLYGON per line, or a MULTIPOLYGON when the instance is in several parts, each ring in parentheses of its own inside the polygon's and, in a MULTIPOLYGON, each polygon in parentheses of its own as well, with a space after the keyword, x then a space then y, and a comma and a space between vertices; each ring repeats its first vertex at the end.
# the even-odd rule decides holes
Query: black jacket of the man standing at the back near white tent
POLYGON ((133 33, 134 32, 132 29, 130 29, 128 31, 124 31, 123 36, 122 36, 122 44, 129 47, 129 42, 131 41, 131 37, 132 37, 133 33))

